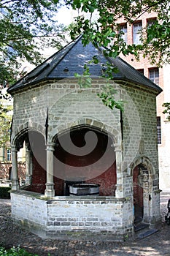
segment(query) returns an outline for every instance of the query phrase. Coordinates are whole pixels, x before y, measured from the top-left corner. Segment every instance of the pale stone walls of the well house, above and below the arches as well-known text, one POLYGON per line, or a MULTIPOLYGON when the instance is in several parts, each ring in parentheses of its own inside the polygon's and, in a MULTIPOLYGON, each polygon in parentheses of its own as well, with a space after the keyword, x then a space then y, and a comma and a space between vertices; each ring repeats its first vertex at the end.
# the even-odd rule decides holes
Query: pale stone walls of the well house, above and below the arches
MULTIPOLYGON (((142 173, 144 219, 150 223, 160 217, 156 94, 142 86, 121 84, 118 87, 117 83, 113 83, 117 89, 116 98, 125 102, 123 120, 120 120, 120 110, 110 110, 97 96, 104 83, 103 79, 93 80, 90 89, 80 89, 75 79, 65 79, 15 94, 13 144, 15 136, 22 135, 27 128, 40 132, 45 140, 45 123, 48 123, 47 143, 53 144, 69 129, 81 129, 84 125, 107 132, 112 138, 113 150, 115 148, 115 197, 53 197, 53 200, 42 200, 45 197, 32 197, 28 194, 31 192, 12 192, 12 216, 35 230, 37 225, 39 231, 36 230, 36 233, 40 232, 41 236, 58 233, 61 236, 64 232, 69 232, 71 236, 72 231, 82 230, 86 235, 89 232, 100 233, 100 237, 108 233, 131 236, 134 222, 133 172, 139 165, 146 169, 142 173), (36 204, 39 205, 37 211, 36 204), (25 207, 28 207, 27 211, 25 207)), ((41 172, 38 174, 41 176, 41 172)))

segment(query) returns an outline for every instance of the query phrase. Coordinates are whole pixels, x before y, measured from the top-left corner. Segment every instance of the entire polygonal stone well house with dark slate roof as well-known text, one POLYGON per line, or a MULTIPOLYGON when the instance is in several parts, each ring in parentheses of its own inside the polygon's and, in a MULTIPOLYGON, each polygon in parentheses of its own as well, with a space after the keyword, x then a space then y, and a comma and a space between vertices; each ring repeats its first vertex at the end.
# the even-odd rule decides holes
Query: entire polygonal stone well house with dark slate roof
POLYGON ((161 89, 155 83, 122 59, 104 57, 102 48, 84 47, 78 37, 8 91, 14 97, 12 217, 42 237, 111 239, 133 236, 134 214, 150 225, 160 220, 161 89), (81 87, 74 74, 81 75, 94 55, 99 63, 89 64, 91 85, 81 87), (123 100, 123 112, 98 97, 108 83, 101 77, 107 62, 119 70, 109 85, 123 100), (19 187, 23 143, 26 186, 19 187))

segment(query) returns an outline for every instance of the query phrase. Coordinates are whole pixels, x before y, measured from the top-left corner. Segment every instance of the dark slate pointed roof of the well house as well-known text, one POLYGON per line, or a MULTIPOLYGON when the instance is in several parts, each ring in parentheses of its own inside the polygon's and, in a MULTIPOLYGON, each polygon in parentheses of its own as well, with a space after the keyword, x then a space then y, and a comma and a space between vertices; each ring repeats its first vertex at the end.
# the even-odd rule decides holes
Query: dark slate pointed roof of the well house
POLYGON ((162 89, 152 83, 134 67, 120 57, 112 59, 105 57, 104 48, 95 48, 89 43, 85 47, 82 45, 81 36, 70 42, 57 53, 50 56, 38 67, 29 72, 25 77, 18 80, 13 86, 9 87, 8 92, 15 94, 18 89, 27 89, 28 86, 35 85, 42 80, 57 80, 63 78, 74 78, 75 73, 83 73, 84 64, 88 64, 94 55, 98 56, 98 64, 90 64, 90 75, 92 78, 98 78, 102 75, 102 64, 109 62, 113 67, 117 67, 119 72, 113 73, 114 80, 129 81, 138 85, 147 86, 154 89, 159 94, 162 89))

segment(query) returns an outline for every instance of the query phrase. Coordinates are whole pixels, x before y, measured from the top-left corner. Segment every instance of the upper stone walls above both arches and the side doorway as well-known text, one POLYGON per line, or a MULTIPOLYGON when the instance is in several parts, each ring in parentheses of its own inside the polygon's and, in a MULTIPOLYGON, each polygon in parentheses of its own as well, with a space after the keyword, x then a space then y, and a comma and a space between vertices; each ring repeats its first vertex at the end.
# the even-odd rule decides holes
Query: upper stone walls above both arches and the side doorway
MULTIPOLYGON (((26 127, 34 127, 45 136, 48 108, 48 140, 70 127, 80 124, 102 126, 115 134, 115 143, 121 140, 120 111, 105 107, 97 96, 104 80, 93 81, 92 89, 78 89, 75 80, 60 80, 48 86, 39 86, 29 92, 15 94, 12 138, 26 127), (22 99, 22 100, 21 100, 22 99), (17 113, 15 114, 15 112, 17 113)), ((117 88, 117 84, 113 83, 117 88)), ((124 164, 130 165, 137 155, 152 159, 158 172, 156 143, 155 94, 132 85, 121 86, 117 99, 125 101, 123 112, 124 164)))

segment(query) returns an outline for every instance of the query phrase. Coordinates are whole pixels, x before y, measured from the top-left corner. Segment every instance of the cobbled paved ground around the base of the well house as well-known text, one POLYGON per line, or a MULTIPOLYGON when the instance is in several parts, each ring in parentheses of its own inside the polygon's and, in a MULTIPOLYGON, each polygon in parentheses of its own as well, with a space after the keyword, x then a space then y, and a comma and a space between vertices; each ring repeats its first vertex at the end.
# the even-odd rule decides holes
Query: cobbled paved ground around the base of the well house
POLYGON ((164 222, 170 193, 161 193, 162 223, 158 233, 136 241, 59 241, 42 239, 15 225, 10 218, 10 200, 0 199, 0 245, 18 246, 39 256, 170 256, 170 226, 164 222))

